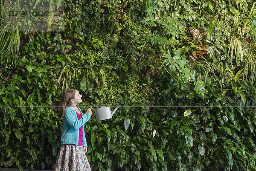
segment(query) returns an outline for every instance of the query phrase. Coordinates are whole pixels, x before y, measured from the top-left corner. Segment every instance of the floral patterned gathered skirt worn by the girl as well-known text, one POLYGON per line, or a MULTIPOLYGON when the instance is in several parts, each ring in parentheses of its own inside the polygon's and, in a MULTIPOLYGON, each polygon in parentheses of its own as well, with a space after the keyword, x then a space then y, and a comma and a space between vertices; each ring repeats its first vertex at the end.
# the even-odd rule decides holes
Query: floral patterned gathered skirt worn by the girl
POLYGON ((54 171, 90 171, 83 146, 61 145, 54 171))

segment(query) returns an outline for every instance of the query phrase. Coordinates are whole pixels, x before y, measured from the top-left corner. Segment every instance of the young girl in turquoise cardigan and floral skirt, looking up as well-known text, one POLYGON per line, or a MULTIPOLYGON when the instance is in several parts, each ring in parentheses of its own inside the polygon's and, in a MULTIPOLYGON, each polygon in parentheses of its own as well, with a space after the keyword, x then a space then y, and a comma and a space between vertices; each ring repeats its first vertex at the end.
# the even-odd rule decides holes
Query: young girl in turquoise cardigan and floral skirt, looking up
POLYGON ((76 106, 82 102, 81 97, 75 89, 65 90, 61 96, 60 119, 63 119, 64 128, 55 171, 90 171, 90 164, 85 155, 87 142, 84 124, 90 119, 92 112, 89 108, 83 114, 76 106))

